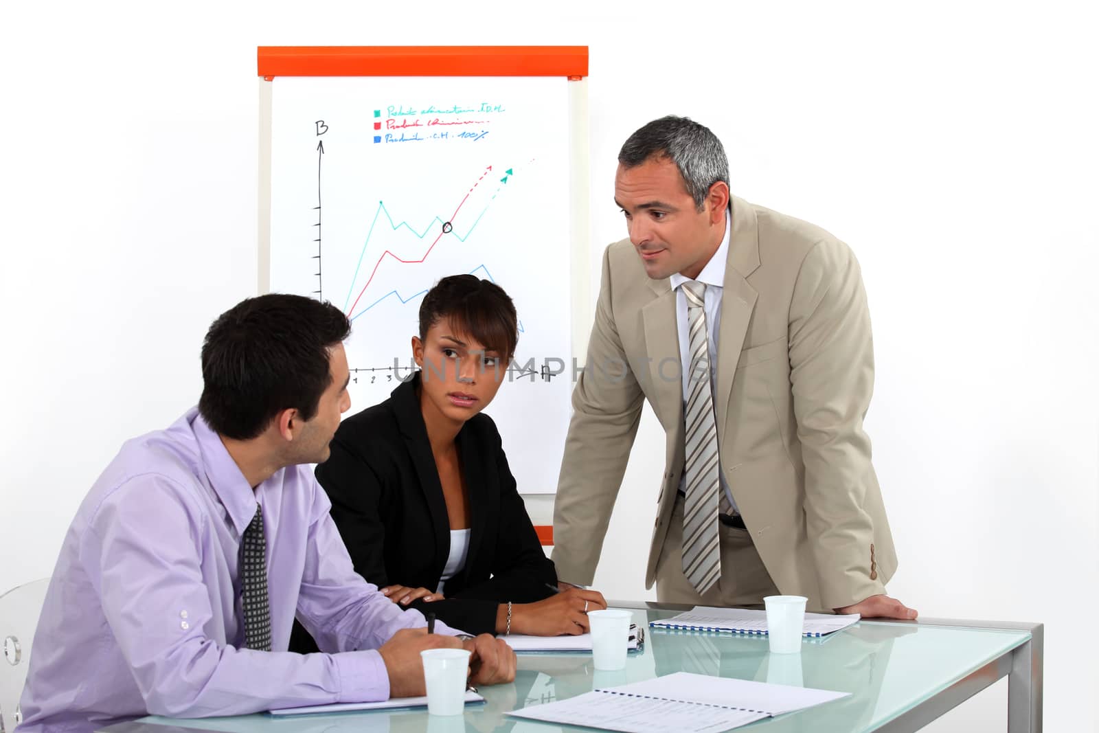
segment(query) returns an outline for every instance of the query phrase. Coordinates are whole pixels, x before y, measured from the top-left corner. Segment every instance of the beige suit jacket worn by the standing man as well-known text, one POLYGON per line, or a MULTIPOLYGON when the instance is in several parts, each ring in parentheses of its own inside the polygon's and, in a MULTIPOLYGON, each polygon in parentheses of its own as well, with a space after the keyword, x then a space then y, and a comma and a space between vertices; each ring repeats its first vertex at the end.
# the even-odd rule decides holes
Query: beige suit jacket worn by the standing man
MULTIPOLYGON (((810 609, 885 592, 897 567, 863 430, 874 387, 858 263, 828 232, 732 199, 718 334, 721 470, 782 593, 810 609)), ((553 560, 590 584, 644 400, 666 434, 645 585, 684 468, 676 293, 633 245, 607 247, 584 373, 573 391, 554 506, 553 560)))

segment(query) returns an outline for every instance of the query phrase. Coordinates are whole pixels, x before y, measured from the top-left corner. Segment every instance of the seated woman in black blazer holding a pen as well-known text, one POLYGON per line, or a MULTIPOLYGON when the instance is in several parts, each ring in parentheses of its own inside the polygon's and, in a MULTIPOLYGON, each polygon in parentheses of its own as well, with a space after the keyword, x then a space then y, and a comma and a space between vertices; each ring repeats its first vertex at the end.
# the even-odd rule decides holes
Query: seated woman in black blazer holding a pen
POLYGON ((471 634, 578 634, 602 595, 562 586, 545 556, 492 419, 515 309, 497 285, 447 277, 424 296, 420 367, 346 419, 317 478, 355 570, 403 608, 471 634))

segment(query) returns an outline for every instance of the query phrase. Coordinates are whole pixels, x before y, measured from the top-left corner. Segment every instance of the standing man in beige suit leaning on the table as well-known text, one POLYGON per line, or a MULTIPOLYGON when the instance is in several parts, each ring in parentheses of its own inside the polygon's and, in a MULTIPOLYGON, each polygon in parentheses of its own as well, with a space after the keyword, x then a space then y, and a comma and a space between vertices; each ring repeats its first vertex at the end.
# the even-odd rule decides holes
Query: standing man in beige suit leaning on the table
POLYGON ((666 434, 646 587, 660 601, 914 619, 863 430, 874 384, 858 264, 812 224, 730 196, 685 118, 623 145, 630 237, 602 286, 554 508, 563 581, 591 582, 644 400, 666 434))

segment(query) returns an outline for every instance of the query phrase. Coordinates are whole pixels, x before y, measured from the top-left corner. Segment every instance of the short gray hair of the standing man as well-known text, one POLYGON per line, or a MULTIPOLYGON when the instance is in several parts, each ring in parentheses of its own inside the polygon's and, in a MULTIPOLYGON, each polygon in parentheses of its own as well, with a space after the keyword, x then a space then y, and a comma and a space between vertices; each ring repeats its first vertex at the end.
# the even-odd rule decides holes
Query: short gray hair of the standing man
POLYGON ((729 158, 721 141, 690 118, 669 114, 653 120, 630 135, 619 151, 619 164, 626 168, 654 157, 668 157, 676 164, 699 211, 711 186, 719 180, 729 185, 729 158))

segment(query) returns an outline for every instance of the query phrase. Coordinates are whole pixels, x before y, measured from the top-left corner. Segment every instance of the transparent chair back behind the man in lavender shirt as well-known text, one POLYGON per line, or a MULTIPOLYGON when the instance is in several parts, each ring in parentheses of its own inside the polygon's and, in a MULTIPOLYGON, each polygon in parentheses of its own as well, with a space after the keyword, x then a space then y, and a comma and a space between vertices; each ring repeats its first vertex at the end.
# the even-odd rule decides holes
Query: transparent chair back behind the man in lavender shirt
POLYGON ((19 698, 31 662, 31 641, 38 625, 49 578, 15 586, 0 596, 0 733, 22 721, 19 698))

